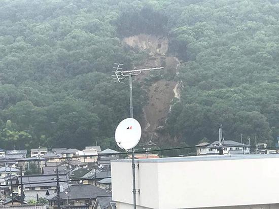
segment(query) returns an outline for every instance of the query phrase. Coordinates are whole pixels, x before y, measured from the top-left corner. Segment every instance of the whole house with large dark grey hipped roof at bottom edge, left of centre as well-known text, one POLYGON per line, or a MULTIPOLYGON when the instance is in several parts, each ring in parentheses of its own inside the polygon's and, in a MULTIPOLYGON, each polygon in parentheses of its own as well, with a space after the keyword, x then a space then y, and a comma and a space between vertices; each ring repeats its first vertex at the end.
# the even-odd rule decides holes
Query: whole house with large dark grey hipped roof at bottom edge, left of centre
MULTIPOLYGON (((61 207, 92 208, 97 197, 111 196, 111 193, 93 185, 71 185, 59 193, 61 207)), ((49 201, 49 208, 57 207, 57 194, 45 197, 49 201)))

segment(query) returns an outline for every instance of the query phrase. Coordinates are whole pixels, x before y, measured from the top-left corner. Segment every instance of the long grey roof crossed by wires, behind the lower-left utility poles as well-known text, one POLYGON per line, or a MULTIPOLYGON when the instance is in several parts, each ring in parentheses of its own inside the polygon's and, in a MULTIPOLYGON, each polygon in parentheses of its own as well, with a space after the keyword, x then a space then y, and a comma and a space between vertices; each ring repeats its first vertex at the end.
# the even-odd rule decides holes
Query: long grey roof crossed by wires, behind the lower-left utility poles
MULTIPOLYGON (((66 175, 59 175, 61 181, 68 180, 66 175)), ((56 186, 56 175, 29 175, 22 176, 22 183, 25 187, 54 187, 56 186), (28 184, 39 182, 39 184, 28 184)))

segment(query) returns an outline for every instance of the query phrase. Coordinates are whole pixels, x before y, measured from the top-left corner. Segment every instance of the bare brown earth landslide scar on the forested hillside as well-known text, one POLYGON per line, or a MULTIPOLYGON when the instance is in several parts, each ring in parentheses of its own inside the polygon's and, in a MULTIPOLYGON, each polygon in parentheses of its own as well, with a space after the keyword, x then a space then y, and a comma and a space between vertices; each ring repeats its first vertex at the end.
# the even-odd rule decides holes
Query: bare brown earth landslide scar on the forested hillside
MULTIPOLYGON (((134 49, 143 50, 149 53, 149 59, 136 68, 164 66, 164 71, 177 74, 179 60, 176 57, 167 56, 168 40, 163 37, 156 37, 147 34, 126 37, 123 39, 126 44, 134 49)), ((145 77, 148 76, 146 73, 145 77)), ((143 77, 137 78, 140 82, 143 77)), ((179 89, 176 81, 159 80, 152 83, 148 88, 148 103, 144 107, 143 140, 153 140, 158 144, 167 140, 161 130, 164 129, 167 114, 171 108, 173 98, 179 98, 179 89)))

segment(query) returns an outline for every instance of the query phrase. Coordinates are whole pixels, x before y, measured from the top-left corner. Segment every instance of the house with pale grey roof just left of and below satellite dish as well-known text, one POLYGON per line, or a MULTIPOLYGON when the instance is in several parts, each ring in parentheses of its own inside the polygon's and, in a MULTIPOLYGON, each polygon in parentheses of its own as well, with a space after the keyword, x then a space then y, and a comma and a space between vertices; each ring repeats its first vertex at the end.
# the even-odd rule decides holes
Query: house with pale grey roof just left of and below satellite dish
POLYGON ((111 149, 106 149, 98 154, 98 167, 111 169, 111 160, 119 159, 119 152, 111 149))

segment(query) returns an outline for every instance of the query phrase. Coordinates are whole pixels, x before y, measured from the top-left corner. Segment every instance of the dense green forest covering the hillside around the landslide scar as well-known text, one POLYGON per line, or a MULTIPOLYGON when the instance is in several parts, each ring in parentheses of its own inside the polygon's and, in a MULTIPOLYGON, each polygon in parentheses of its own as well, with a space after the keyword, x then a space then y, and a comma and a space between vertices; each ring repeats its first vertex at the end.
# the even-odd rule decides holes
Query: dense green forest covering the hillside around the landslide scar
MULTIPOLYGON (((279 135, 279 3, 275 0, 1 0, 0 147, 113 148, 129 116, 128 84, 115 84, 148 53, 122 44, 139 33, 169 40, 180 59, 169 142, 279 135)), ((141 118, 149 80, 134 82, 141 118)), ((160 145, 160 139, 158 140, 160 145)), ((172 144, 175 145, 175 144, 172 144)), ((161 145, 165 146, 165 145, 161 145)))

